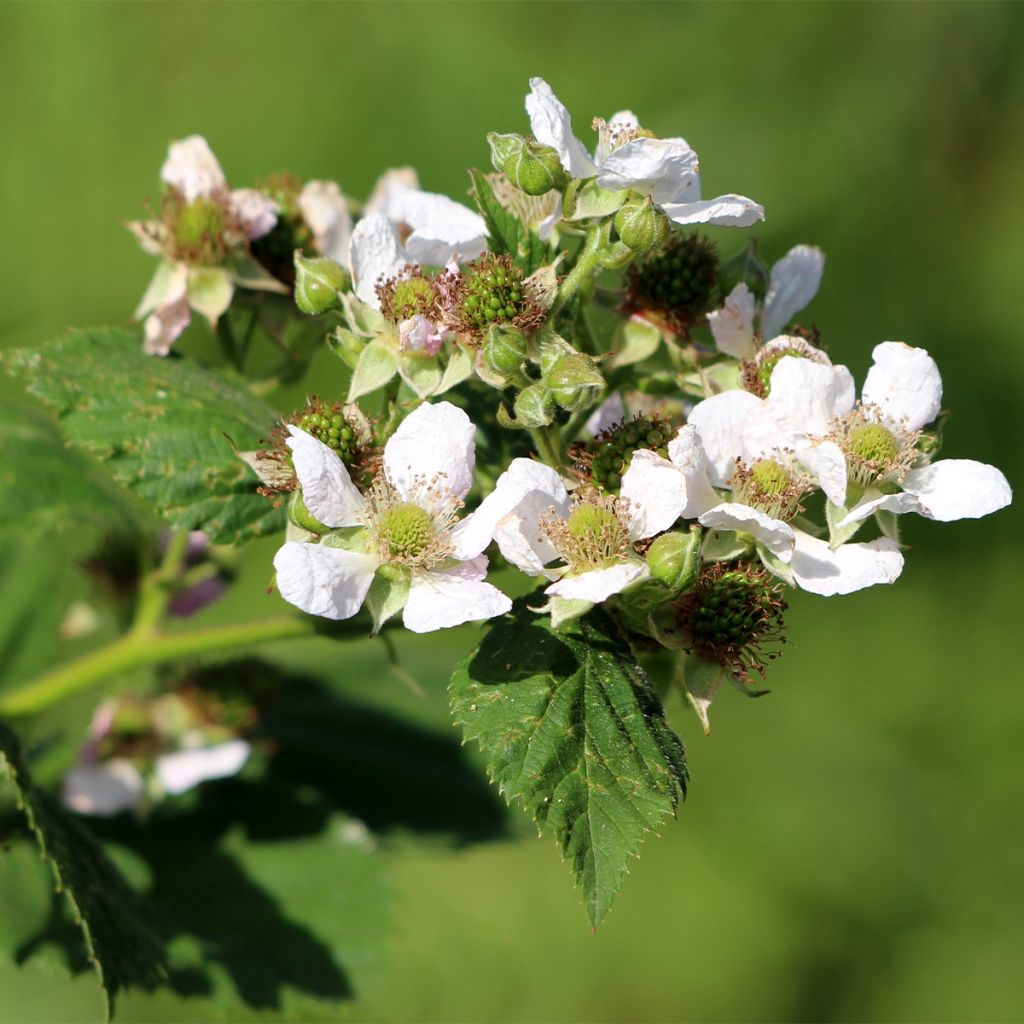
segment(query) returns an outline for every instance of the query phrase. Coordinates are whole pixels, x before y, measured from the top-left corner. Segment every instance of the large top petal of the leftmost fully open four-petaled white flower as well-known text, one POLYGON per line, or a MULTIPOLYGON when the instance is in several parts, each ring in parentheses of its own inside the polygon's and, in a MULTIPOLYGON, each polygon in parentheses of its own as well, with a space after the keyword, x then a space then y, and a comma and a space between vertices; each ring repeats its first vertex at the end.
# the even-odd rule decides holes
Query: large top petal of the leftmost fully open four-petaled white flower
POLYGON ((408 501, 423 484, 461 500, 473 485, 476 427, 450 401, 420 406, 384 445, 388 479, 408 501))

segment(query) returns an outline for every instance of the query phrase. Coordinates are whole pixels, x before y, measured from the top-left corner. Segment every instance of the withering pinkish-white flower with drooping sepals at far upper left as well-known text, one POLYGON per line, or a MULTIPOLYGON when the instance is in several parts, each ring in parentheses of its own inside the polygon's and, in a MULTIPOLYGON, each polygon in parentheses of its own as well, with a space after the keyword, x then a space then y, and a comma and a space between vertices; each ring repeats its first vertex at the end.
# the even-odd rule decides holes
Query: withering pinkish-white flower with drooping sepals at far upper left
POLYGON ((201 135, 172 142, 160 173, 176 197, 164 220, 128 225, 146 252, 163 257, 135 310, 136 319, 145 318, 145 351, 152 355, 170 351, 193 310, 215 329, 236 285, 287 291, 246 255, 248 243, 276 223, 273 200, 253 188, 228 189, 201 135))

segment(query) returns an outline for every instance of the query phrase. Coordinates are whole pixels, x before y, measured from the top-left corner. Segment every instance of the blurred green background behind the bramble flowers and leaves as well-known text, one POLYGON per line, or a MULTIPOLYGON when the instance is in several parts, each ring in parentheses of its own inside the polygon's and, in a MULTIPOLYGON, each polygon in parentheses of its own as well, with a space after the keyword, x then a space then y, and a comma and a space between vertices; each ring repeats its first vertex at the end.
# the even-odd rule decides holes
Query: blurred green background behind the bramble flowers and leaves
MULTIPOLYGON (((411 163, 461 197, 485 132, 525 130, 530 75, 581 135, 626 106, 684 135, 707 195, 765 205, 766 257, 820 245, 806 318, 834 359, 862 379, 879 341, 927 347, 944 455, 1019 483, 1020 4, 8 3, 0 342, 126 324, 153 266, 120 222, 159 196, 170 139, 205 134, 239 185, 289 169, 364 197, 411 163)), ((338 370, 319 366, 328 393, 338 370)), ((1022 1019, 1021 525, 1014 508, 907 522, 897 586, 794 598, 770 697, 724 694, 710 739, 673 707, 690 797, 597 934, 517 817, 511 840, 454 851, 385 842, 392 931, 347 1016, 1022 1019)), ((208 621, 266 607, 273 547, 208 621)), ((275 653, 449 735, 443 687, 474 633, 401 641, 426 700, 376 646, 275 653)), ((0 979, 4 1020, 95 1015, 91 979, 0 979)), ((131 994, 120 1017, 207 1012, 131 994)))

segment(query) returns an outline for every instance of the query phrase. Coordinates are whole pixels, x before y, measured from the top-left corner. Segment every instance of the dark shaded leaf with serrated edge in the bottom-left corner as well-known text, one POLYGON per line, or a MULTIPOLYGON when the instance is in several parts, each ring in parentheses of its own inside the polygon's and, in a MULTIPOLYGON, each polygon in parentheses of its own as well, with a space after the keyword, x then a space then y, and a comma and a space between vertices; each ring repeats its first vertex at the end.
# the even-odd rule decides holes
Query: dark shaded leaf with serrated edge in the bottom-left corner
POLYGON ((108 1014, 122 989, 160 984, 164 949, 150 928, 146 904, 92 834, 33 784, 17 737, 2 722, 0 780, 12 791, 56 891, 63 894, 80 929, 86 956, 106 996, 108 1014))

